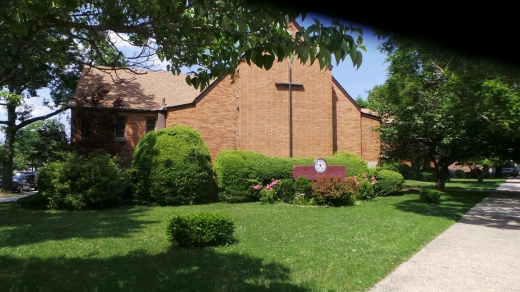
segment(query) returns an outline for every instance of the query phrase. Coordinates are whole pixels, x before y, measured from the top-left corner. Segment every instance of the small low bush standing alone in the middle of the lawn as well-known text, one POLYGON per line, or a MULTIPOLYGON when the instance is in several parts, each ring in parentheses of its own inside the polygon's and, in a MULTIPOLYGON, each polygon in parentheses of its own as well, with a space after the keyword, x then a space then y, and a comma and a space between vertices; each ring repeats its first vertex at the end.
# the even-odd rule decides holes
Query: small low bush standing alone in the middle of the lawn
POLYGON ((232 218, 219 212, 172 215, 166 221, 166 239, 181 247, 205 247, 234 241, 232 218))

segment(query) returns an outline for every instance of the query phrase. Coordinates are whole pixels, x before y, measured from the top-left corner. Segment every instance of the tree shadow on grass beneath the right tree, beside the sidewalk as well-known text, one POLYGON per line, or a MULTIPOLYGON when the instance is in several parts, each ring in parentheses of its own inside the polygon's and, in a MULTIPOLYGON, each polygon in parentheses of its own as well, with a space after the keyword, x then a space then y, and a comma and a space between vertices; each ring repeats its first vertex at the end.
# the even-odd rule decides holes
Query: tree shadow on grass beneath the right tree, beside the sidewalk
POLYGON ((441 196, 440 204, 426 204, 422 202, 419 199, 418 190, 407 190, 406 194, 416 194, 417 198, 395 204, 397 209, 425 216, 437 216, 458 221, 469 209, 489 195, 489 192, 448 192, 446 195, 441 196))

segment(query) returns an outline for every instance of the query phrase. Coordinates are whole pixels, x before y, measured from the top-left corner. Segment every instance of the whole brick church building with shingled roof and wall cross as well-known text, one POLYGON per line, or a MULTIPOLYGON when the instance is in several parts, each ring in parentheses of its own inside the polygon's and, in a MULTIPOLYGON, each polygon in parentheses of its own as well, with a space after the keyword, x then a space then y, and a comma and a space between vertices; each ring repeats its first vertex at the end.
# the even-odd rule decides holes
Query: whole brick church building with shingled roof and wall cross
MULTIPOLYGON (((371 128, 380 118, 362 111, 331 70, 320 71, 318 64, 284 61, 266 71, 242 62, 234 83, 224 77, 202 92, 170 72, 107 72, 86 68, 75 98, 103 84, 106 99, 117 100, 112 130, 122 156, 131 157, 148 131, 182 124, 201 134, 213 159, 227 149, 279 157, 349 151, 379 164, 379 136, 371 128)), ((74 125, 72 131, 81 137, 74 125)))

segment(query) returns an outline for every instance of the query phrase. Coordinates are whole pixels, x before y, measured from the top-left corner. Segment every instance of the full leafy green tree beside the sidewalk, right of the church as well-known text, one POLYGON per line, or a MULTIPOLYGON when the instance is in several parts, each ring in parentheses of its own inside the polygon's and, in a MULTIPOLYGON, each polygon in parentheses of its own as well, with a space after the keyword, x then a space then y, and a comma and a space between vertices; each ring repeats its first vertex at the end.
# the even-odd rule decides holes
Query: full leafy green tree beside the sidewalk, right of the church
POLYGON ((389 78, 368 100, 384 120, 385 155, 406 161, 426 155, 436 188, 444 190, 452 163, 511 154, 520 72, 392 35, 381 50, 388 54, 389 78))

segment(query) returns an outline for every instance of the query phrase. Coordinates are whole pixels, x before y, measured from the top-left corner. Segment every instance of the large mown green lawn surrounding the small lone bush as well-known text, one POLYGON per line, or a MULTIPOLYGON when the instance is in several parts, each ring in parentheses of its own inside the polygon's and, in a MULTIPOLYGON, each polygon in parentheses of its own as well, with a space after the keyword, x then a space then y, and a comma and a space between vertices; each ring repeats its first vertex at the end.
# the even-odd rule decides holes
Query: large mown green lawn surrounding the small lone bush
POLYGON ((427 205, 411 191, 344 208, 0 204, 0 283, 7 291, 363 291, 486 195, 452 192, 427 205), (182 249, 164 240, 168 216, 208 210, 233 218, 236 244, 182 249))

